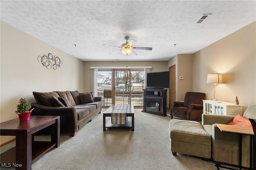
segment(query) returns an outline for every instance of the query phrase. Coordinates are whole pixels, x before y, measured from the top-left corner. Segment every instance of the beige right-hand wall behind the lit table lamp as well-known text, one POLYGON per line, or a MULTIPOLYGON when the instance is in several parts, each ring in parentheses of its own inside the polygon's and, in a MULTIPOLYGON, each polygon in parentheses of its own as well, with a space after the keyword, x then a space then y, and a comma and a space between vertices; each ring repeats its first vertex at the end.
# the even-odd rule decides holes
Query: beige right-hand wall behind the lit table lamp
POLYGON ((222 73, 223 84, 216 84, 215 98, 234 103, 236 96, 243 112, 256 104, 256 21, 220 39, 193 55, 193 91, 213 98, 213 84, 207 74, 222 73))

